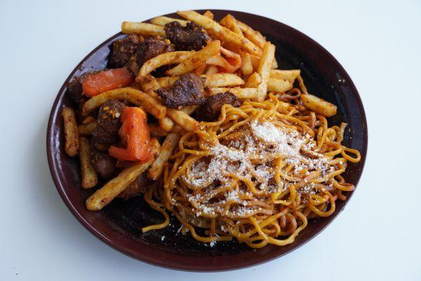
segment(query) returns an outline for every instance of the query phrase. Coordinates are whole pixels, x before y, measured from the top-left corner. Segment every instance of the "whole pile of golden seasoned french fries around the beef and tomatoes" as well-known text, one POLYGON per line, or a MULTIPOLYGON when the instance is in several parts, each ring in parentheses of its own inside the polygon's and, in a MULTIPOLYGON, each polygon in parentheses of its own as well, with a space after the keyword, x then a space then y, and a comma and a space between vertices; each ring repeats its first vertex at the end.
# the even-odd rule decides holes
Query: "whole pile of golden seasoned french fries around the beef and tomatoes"
POLYGON ((149 124, 151 135, 165 137, 162 145, 156 138, 152 138, 154 153, 149 161, 124 169, 119 176, 96 190, 86 201, 89 210, 105 207, 145 171, 149 178, 156 181, 177 148, 180 135, 199 129, 199 122, 190 116, 196 110, 196 105, 168 108, 156 94, 157 89, 173 85, 182 74, 194 72, 205 77, 208 96, 230 91, 241 100, 256 101, 265 100, 270 92, 286 93, 293 88, 296 81, 302 91, 300 98, 305 107, 326 117, 336 114, 335 105, 307 93, 300 70, 276 69, 275 46, 260 32, 229 14, 219 22, 213 20, 210 11, 203 15, 195 11, 179 11, 178 15, 185 20, 161 16, 151 20, 151 23, 123 22, 121 30, 123 34, 138 34, 140 39, 148 36, 166 37, 164 25, 168 22, 178 21, 185 26, 191 21, 206 30, 212 40, 200 51, 173 51, 147 60, 140 67, 135 79, 137 84, 100 93, 87 100, 82 107, 82 115, 86 119, 79 126, 76 124, 74 110, 68 107, 62 110, 65 151, 72 157, 79 154, 82 188, 93 188, 98 183, 98 175, 90 161, 91 148, 86 137, 97 126, 95 119, 89 115, 107 100, 128 100, 133 105, 142 107, 158 120, 156 124, 149 124), (234 71, 219 71, 216 65, 220 63, 222 55, 236 62, 234 71), (152 72, 163 65, 175 66, 167 70, 167 77, 153 77, 152 72))

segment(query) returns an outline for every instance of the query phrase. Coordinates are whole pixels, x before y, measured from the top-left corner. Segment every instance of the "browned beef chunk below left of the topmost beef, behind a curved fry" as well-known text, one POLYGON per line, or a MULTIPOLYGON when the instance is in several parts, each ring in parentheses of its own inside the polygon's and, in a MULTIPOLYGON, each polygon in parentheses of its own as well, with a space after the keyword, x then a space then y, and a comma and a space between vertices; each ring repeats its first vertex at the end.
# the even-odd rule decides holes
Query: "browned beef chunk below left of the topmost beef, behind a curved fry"
POLYGON ((160 37, 147 37, 139 44, 136 55, 138 56, 138 67, 142 67, 145 61, 161 55, 161 53, 173 52, 174 48, 160 37))

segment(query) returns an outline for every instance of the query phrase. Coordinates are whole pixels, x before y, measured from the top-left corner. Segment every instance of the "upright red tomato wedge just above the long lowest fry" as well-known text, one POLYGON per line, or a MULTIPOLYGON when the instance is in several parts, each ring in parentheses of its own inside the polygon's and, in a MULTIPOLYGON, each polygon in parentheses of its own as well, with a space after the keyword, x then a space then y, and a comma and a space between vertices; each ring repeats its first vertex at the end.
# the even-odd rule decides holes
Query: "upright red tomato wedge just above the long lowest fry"
POLYGON ((119 136, 126 148, 109 148, 109 155, 121 161, 145 162, 151 156, 147 115, 140 107, 126 107, 121 115, 119 136))

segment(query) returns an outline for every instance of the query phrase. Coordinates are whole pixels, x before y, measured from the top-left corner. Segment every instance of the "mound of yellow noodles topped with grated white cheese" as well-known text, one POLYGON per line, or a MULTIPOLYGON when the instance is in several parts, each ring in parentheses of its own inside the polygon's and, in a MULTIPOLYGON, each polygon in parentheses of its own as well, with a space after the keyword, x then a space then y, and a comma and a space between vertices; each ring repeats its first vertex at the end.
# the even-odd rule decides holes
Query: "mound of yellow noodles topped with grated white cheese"
POLYGON ((185 133, 160 184, 145 194, 165 221, 142 230, 168 226, 170 211, 196 240, 235 237, 261 248, 290 244, 309 218, 333 214, 335 200, 354 190, 341 174, 360 160, 341 144, 347 124, 328 127, 281 97, 224 105, 217 122, 185 133))

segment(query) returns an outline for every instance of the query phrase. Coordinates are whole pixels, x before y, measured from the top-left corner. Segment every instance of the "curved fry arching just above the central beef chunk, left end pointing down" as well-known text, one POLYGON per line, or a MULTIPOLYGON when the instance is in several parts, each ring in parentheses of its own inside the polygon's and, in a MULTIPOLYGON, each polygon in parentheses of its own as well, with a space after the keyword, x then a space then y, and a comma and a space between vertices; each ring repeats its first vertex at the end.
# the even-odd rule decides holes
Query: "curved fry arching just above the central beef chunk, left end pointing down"
POLYGON ((141 79, 141 77, 144 77, 152 71, 156 70, 156 68, 158 67, 161 67, 163 65, 173 65, 175 63, 181 63, 193 53, 194 51, 175 51, 170 53, 162 53, 161 55, 156 55, 156 57, 147 60, 142 65, 142 67, 140 67, 136 81, 138 81, 138 79, 141 79))

